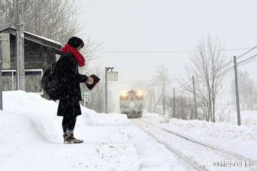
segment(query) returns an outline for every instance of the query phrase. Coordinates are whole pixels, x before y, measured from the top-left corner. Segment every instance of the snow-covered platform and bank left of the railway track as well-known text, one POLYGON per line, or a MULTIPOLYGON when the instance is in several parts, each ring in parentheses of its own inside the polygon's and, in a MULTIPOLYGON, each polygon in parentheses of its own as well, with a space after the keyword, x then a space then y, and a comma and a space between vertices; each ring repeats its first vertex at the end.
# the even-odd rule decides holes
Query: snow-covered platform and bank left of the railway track
POLYGON ((0 170, 186 170, 123 114, 98 114, 81 106, 74 133, 85 142, 63 144, 57 107, 36 93, 3 92, 0 170))

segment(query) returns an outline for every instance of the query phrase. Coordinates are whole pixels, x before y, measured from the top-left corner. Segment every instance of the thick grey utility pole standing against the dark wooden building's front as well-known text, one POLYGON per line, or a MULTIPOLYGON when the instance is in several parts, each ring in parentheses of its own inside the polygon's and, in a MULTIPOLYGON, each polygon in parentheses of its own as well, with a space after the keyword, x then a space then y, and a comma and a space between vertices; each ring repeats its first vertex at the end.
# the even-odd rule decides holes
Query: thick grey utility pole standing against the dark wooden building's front
POLYGON ((25 67, 24 67, 24 24, 23 24, 23 0, 16 0, 16 81, 17 90, 25 91, 25 67))

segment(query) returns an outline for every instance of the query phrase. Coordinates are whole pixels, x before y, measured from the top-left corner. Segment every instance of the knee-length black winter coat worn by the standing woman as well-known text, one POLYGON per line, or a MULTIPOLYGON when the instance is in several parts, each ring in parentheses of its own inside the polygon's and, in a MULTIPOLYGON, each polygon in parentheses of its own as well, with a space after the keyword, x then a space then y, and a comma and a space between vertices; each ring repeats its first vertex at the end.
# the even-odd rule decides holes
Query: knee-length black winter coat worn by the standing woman
POLYGON ((56 63, 56 68, 60 93, 57 115, 68 117, 81 115, 80 83, 85 83, 87 76, 78 73, 76 59, 71 53, 63 53, 56 63))

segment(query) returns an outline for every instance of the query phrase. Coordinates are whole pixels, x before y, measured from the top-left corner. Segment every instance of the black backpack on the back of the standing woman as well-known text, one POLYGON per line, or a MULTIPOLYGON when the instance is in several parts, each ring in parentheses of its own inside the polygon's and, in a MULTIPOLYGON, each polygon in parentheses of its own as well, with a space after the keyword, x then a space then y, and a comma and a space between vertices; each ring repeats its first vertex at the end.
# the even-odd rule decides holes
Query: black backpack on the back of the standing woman
POLYGON ((57 62, 54 62, 52 65, 48 66, 41 78, 42 88, 51 100, 60 99, 59 80, 56 76, 56 63, 57 62))

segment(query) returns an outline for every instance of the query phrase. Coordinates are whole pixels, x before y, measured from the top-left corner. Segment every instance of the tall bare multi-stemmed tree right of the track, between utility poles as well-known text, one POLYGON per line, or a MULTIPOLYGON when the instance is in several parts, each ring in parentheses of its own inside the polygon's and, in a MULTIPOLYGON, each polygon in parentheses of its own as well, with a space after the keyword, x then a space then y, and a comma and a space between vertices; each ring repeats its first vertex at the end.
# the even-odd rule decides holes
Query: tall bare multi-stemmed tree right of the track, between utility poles
MULTIPOLYGON (((202 111, 207 121, 215 122, 215 101, 220 90, 220 83, 230 65, 224 65, 224 47, 220 40, 208 35, 207 40, 202 38, 196 49, 191 53, 190 62, 185 65, 185 75, 191 79, 195 76, 196 96, 202 102, 202 111)), ((189 83, 181 83, 183 87, 193 92, 189 83)))

